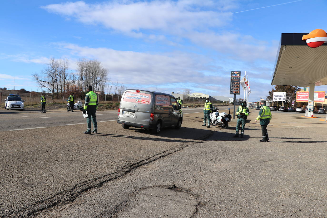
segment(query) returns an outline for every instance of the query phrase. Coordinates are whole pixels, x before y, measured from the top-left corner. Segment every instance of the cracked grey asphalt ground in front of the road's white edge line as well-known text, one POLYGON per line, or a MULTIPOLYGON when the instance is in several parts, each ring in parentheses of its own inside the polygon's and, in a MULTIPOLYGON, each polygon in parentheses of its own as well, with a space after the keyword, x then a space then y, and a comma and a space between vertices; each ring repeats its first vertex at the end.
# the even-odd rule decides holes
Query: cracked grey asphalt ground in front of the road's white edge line
POLYGON ((159 136, 111 122, 89 137, 59 134, 69 126, 22 130, 30 135, 24 146, 1 143, 0 214, 326 217, 326 122, 273 112, 270 141, 259 143, 256 115, 244 139, 232 138, 235 122, 202 127, 202 113, 185 114, 180 130, 159 136))

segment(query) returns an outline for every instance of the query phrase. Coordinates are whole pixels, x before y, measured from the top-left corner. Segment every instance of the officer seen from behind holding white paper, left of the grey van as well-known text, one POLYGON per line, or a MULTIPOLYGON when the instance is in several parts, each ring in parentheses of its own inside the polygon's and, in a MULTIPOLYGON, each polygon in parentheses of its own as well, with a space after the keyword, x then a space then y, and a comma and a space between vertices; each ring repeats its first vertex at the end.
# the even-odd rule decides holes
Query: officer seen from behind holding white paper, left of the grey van
POLYGON ((93 133, 98 132, 98 125, 96 123, 95 114, 96 109, 98 108, 98 97, 96 94, 92 91, 92 86, 89 86, 88 88, 89 92, 85 95, 85 103, 84 103, 84 109, 83 113, 86 114, 86 122, 87 122, 87 130, 84 132, 85 134, 91 134, 91 120, 93 122, 93 133))

